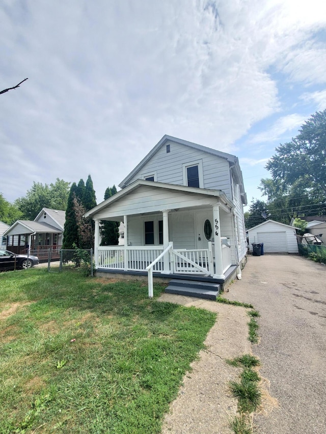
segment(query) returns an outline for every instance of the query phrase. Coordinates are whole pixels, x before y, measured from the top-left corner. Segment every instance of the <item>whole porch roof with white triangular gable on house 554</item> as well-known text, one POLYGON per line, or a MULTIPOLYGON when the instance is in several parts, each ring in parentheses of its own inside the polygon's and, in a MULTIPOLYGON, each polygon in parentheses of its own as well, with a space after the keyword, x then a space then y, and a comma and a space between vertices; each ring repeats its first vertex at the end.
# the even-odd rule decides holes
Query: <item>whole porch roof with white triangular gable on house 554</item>
POLYGON ((137 180, 85 213, 85 217, 114 220, 124 215, 214 204, 226 211, 234 207, 221 190, 137 180))

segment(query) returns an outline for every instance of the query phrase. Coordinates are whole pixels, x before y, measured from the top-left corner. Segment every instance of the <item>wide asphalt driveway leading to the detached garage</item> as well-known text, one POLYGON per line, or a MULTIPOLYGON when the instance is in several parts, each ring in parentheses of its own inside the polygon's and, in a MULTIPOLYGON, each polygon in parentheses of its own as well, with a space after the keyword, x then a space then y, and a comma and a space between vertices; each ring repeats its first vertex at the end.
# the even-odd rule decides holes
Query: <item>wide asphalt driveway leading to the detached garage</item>
POLYGON ((253 345, 279 407, 258 415, 263 434, 326 432, 326 266, 297 255, 249 256, 225 297, 259 310, 253 345))

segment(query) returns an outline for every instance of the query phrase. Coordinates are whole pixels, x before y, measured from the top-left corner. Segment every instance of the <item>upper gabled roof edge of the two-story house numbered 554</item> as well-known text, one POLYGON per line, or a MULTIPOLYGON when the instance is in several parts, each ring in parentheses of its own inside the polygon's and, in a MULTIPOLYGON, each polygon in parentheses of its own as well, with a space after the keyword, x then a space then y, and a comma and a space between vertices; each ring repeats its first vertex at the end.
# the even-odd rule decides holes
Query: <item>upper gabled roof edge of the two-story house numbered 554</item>
MULTIPOLYGON (((189 148, 197 149, 198 151, 206 152, 207 154, 215 155, 216 157, 224 158, 225 160, 229 161, 231 165, 237 165, 239 166, 238 158, 234 155, 227 154, 226 152, 216 151, 215 149, 207 148, 206 146, 202 146, 201 144, 193 143, 191 141, 182 140, 177 137, 168 136, 167 134, 164 135, 160 141, 154 146, 154 148, 146 155, 145 158, 129 173, 129 175, 119 184, 120 188, 125 188, 128 182, 134 175, 141 170, 141 168, 153 157, 156 152, 165 145, 167 141, 173 141, 175 143, 183 144, 184 146, 187 146, 189 148)), ((237 180, 238 184, 243 186, 243 180, 242 180, 242 173, 239 168, 239 170, 236 170, 235 172, 236 177, 239 179, 237 180)))

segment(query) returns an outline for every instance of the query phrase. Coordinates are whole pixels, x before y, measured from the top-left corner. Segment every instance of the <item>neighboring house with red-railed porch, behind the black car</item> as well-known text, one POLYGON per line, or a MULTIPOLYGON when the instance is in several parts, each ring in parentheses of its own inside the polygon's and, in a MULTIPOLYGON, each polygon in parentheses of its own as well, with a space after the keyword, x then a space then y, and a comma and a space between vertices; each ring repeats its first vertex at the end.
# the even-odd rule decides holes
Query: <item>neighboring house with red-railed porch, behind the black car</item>
POLYGON ((36 218, 17 220, 4 235, 7 236, 7 249, 14 253, 26 253, 30 248, 37 256, 47 255, 50 249, 59 252, 62 246, 66 212, 43 208, 36 218))

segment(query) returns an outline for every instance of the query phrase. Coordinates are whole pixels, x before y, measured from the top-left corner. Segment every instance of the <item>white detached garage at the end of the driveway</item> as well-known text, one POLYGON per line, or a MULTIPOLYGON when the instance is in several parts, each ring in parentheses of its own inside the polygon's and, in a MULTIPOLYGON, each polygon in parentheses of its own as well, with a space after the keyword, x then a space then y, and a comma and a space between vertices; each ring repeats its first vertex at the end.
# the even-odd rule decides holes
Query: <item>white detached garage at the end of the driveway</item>
POLYGON ((298 253, 296 232, 293 226, 266 220, 248 229, 249 247, 264 243, 264 253, 298 253))

